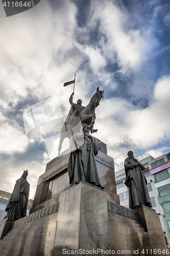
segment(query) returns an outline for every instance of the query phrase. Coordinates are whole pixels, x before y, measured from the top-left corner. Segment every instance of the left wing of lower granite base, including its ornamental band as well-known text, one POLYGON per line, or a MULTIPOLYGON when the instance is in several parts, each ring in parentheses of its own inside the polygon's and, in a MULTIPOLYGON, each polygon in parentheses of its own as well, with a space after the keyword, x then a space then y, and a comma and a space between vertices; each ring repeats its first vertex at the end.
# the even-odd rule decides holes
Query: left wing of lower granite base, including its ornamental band
POLYGON ((55 204, 11 223, 11 230, 0 241, 1 255, 52 255, 57 219, 58 204, 55 204))

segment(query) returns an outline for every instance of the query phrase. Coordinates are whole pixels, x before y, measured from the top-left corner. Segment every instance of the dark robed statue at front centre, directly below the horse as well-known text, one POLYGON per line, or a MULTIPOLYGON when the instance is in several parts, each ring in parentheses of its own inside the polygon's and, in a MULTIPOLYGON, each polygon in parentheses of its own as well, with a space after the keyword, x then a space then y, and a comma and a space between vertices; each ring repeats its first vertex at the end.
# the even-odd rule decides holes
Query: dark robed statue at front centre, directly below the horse
POLYGON ((70 157, 68 161, 68 176, 70 185, 79 181, 86 181, 96 186, 101 185, 95 158, 98 145, 95 138, 89 134, 88 125, 81 125, 80 133, 75 133, 70 139, 70 157))

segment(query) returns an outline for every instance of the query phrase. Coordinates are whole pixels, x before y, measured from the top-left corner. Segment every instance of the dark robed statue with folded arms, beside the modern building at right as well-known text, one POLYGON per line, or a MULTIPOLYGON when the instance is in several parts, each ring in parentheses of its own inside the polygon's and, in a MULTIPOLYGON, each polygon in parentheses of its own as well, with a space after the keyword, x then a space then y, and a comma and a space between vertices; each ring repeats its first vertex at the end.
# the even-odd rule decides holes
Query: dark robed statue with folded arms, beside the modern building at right
POLYGON ((124 166, 126 173, 125 185, 128 187, 129 194, 129 208, 140 204, 152 207, 147 189, 147 179, 142 173, 142 170, 145 169, 144 165, 134 158, 132 151, 129 151, 124 166))

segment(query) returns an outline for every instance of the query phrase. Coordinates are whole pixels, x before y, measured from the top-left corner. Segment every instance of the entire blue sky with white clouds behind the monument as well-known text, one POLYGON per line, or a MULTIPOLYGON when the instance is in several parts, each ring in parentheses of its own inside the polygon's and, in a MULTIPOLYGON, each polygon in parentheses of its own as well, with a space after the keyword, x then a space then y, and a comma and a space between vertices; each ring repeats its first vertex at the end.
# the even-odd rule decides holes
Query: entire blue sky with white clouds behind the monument
POLYGON ((30 106, 37 125, 64 120, 72 85, 63 83, 75 73, 74 102, 87 105, 97 87, 104 90, 95 136, 116 169, 129 150, 138 159, 170 151, 169 9, 166 0, 41 0, 6 17, 0 2, 1 190, 12 192, 29 169, 35 194, 59 134, 39 136, 30 106))

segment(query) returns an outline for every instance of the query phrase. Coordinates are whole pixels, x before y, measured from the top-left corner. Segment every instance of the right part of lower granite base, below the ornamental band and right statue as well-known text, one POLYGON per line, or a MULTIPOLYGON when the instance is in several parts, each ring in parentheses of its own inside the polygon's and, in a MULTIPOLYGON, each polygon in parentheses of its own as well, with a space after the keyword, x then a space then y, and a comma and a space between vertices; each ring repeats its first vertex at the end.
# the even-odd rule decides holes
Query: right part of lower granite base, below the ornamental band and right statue
POLYGON ((109 212, 111 250, 131 256, 165 255, 167 247, 158 214, 145 207, 133 207, 138 221, 109 212))

